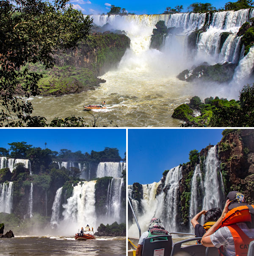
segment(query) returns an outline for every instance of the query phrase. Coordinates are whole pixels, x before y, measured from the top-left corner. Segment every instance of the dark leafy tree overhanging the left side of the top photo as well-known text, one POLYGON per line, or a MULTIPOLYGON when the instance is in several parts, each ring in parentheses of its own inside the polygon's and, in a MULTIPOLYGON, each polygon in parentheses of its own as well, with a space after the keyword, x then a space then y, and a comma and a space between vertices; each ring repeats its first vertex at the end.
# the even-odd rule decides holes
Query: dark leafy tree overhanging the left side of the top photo
MULTIPOLYGON (((28 64, 55 64, 53 54, 86 39, 91 19, 67 0, 0 1, 0 125, 39 126, 33 106, 23 96, 39 95, 42 75, 28 64)), ((41 126, 41 125, 40 125, 41 126)))

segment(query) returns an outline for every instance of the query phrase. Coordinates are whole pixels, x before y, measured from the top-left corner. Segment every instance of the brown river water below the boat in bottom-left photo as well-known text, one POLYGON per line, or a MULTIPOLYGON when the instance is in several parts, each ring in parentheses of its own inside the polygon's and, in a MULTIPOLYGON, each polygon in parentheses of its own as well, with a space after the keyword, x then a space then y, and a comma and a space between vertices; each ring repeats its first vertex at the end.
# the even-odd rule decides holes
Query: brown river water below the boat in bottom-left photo
POLYGON ((125 237, 76 241, 74 237, 14 237, 0 239, 0 256, 89 255, 125 256, 125 237))

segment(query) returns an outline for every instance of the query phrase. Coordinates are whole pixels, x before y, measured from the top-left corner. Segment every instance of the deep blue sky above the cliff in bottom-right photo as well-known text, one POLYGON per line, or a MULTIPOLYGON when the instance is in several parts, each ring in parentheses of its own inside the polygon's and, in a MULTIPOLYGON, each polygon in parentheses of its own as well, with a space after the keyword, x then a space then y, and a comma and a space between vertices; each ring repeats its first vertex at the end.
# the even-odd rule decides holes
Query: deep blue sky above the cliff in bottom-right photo
POLYGON ((129 129, 128 184, 160 181, 162 173, 189 161, 189 152, 217 144, 223 129, 129 129))

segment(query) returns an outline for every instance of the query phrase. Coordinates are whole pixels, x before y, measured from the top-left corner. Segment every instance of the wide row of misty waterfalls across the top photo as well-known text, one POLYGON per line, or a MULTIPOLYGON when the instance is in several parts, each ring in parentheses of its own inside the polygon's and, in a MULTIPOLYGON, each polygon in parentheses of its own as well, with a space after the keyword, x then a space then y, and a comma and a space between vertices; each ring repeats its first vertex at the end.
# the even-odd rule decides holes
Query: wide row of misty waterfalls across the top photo
MULTIPOLYGON (((237 64, 235 74, 227 89, 225 97, 238 97, 239 89, 244 81, 248 81, 254 67, 254 47, 244 56, 244 46, 237 32, 243 23, 254 17, 254 9, 239 11, 219 11, 214 13, 178 13, 178 14, 153 14, 153 15, 92 15, 96 25, 110 24, 113 29, 124 30, 130 38, 130 49, 139 56, 142 61, 144 55, 151 56, 153 63, 161 63, 170 67, 168 76, 177 75, 193 65, 207 62, 210 65, 216 63, 232 62, 237 64), (163 55, 155 54, 149 49, 151 36, 155 24, 164 21, 167 28, 172 28, 160 49, 163 55), (201 28, 205 28, 204 30, 201 28), (193 31, 198 31, 195 49, 188 44, 188 36, 193 31), (221 36, 225 33, 226 40, 221 42, 221 36), (167 60, 165 59, 167 58, 167 60), (229 92, 232 92, 229 95, 229 92)), ((125 54, 124 60, 129 58, 125 54)), ((149 58, 144 58, 145 67, 149 66, 149 58)), ((133 63, 133 56, 130 59, 133 63)), ((134 64, 134 63, 133 63, 134 64)), ((135 66, 134 66, 135 67, 135 66)), ((164 69, 166 67, 163 67, 164 69)), ((162 68, 162 69, 163 69, 162 68)), ((154 69, 154 72, 156 70, 154 69)))

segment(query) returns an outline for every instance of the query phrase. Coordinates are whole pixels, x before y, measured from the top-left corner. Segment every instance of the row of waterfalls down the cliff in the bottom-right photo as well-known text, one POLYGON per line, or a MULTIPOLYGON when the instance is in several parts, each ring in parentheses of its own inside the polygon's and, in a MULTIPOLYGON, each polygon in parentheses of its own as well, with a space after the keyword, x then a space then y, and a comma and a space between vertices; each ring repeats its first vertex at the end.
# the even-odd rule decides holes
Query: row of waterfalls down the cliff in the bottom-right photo
MULTIPOLYGON (((219 167, 216 146, 211 147, 203 161, 203 171, 200 164, 195 166, 191 178, 191 197, 189 199, 189 220, 202 209, 213 207, 223 208, 224 184, 219 167)), ((128 186, 128 196, 131 200, 135 215, 138 218, 141 231, 146 231, 152 217, 159 217, 165 228, 170 232, 193 232, 191 223, 182 229, 179 223, 180 182, 183 178, 182 166, 168 171, 160 193, 157 187, 160 182, 142 185, 143 197, 140 201, 133 197, 133 185, 128 186)), ((128 234, 135 236, 138 229, 135 220, 129 225, 128 234)))

